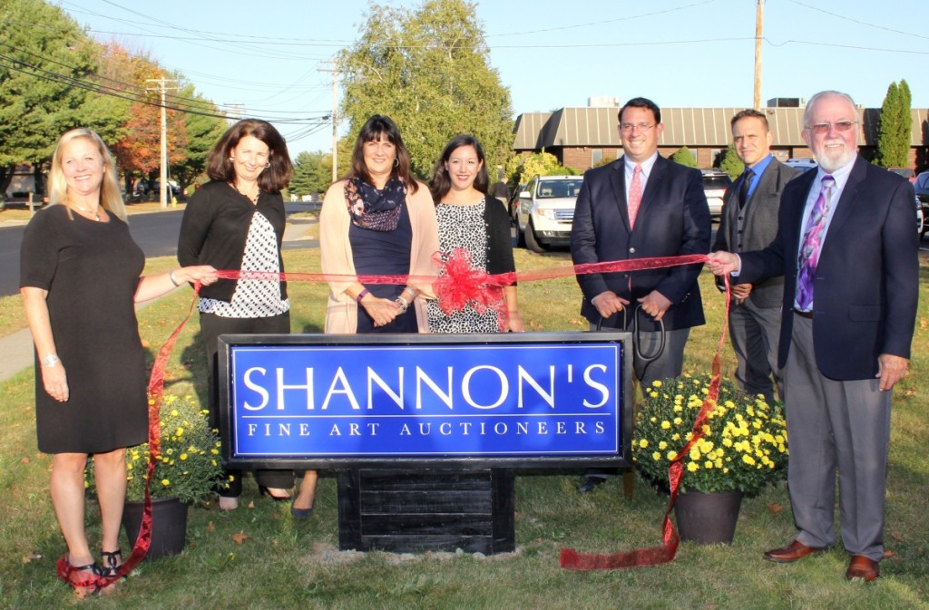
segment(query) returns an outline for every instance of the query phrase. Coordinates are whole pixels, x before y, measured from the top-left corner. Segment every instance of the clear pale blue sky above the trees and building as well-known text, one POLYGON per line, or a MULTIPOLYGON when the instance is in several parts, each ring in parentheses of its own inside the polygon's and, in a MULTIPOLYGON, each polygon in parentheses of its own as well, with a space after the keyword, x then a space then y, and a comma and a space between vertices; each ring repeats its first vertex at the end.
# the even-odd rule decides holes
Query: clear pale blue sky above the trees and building
MULTIPOLYGON (((333 107, 332 60, 358 39, 371 10, 365 0, 53 1, 98 40, 182 72, 224 110, 274 123, 293 157, 330 149, 332 125, 321 119, 333 107)), ((587 106, 590 97, 622 104, 643 96, 662 108, 752 106, 757 0, 476 5, 514 118, 587 106)), ((929 107, 926 0, 769 0, 763 17, 763 105, 836 89, 878 108, 887 86, 905 79, 912 107, 929 107)), ((346 129, 341 123, 339 136, 346 129)))

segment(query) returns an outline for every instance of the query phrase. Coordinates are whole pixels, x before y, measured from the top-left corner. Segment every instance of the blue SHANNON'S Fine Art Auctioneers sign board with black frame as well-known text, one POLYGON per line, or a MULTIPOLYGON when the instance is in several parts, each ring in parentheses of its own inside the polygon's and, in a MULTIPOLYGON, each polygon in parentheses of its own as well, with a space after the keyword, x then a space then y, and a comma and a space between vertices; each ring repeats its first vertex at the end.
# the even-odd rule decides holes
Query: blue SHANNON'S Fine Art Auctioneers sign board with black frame
POLYGON ((224 336, 224 458, 627 457, 624 333, 533 334, 224 336))

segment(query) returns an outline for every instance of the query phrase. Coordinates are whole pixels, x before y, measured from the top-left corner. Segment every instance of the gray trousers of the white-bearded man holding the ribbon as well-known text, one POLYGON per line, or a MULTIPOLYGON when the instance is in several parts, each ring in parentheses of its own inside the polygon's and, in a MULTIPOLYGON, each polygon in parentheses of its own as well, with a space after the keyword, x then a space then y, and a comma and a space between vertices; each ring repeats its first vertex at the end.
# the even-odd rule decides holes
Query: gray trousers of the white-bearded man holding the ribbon
POLYGON ((810 547, 835 544, 838 471, 845 550, 881 561, 891 393, 878 390, 878 379, 823 377, 813 353, 813 320, 800 316, 793 317, 783 376, 797 539, 810 547))

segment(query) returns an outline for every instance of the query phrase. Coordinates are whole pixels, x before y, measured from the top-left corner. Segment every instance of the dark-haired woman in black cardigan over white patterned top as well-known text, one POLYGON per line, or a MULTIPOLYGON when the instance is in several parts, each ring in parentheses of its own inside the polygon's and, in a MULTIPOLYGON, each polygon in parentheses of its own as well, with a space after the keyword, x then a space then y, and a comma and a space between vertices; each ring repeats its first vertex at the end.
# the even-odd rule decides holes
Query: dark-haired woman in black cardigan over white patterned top
MULTIPOLYGON (((184 210, 177 241, 181 265, 281 273, 284 201, 281 189, 294 166, 281 134, 268 122, 245 119, 229 127, 210 151, 206 174, 184 210)), ((216 339, 221 334, 290 332, 290 300, 280 279, 220 279, 200 292, 200 329, 209 370, 210 425, 219 427, 216 339)), ((229 486, 218 489, 219 509, 239 506, 242 472, 227 471, 229 486)), ((316 472, 307 485, 316 487, 316 472)), ((290 500, 294 472, 255 471, 258 487, 274 500, 290 500)), ((301 513, 295 512, 300 517, 301 513)))

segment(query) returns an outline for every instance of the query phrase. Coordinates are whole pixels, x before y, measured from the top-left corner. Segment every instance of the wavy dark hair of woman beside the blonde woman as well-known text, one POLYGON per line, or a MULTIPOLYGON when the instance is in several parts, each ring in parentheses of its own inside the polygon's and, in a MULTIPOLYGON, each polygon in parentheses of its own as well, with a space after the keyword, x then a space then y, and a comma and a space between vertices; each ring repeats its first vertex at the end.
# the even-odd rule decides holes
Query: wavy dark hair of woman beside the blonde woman
POLYGON ((287 152, 287 143, 271 123, 260 119, 242 119, 216 142, 206 161, 206 175, 220 182, 235 181, 235 167, 229 162, 232 149, 245 136, 252 136, 268 146, 268 168, 258 175, 258 188, 269 193, 287 188, 294 175, 294 163, 287 152))

